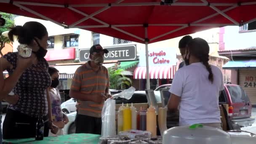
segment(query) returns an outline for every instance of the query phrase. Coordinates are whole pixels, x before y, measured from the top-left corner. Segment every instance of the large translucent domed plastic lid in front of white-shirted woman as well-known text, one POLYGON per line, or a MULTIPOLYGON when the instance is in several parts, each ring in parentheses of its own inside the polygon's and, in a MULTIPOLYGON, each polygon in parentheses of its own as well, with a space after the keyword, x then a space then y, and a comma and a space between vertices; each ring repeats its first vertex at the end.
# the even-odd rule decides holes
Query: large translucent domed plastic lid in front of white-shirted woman
POLYGON ((196 124, 166 130, 163 144, 232 144, 232 141, 231 136, 219 128, 196 124))

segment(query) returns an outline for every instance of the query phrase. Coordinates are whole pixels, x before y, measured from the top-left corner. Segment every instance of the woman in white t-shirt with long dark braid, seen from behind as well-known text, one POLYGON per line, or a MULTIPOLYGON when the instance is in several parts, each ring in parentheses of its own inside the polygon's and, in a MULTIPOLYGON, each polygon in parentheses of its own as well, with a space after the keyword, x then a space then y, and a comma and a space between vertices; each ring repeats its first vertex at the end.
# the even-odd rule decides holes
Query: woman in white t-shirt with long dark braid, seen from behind
POLYGON ((175 73, 169 90, 169 111, 179 109, 179 125, 201 123, 222 129, 219 93, 224 90, 224 82, 221 70, 208 63, 208 43, 194 38, 184 56, 189 65, 175 73))

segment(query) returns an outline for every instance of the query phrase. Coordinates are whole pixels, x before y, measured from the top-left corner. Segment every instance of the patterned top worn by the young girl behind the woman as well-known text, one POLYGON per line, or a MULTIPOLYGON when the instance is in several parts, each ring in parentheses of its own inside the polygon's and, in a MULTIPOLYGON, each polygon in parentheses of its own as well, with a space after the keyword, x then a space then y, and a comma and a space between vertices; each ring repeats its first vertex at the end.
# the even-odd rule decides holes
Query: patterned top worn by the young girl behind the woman
POLYGON ((59 90, 56 89, 57 95, 53 91, 49 91, 49 96, 51 99, 51 109, 53 121, 62 121, 63 113, 61 110, 61 96, 59 94, 59 90))

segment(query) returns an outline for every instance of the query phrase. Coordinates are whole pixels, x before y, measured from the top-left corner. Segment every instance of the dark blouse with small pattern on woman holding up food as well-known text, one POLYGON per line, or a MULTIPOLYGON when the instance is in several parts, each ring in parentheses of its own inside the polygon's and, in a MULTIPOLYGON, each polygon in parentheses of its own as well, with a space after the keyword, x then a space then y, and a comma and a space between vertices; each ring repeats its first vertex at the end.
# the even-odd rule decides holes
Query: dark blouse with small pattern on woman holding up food
MULTIPOLYGON (((7 69, 9 75, 17 67, 17 52, 9 52, 3 57, 12 65, 12 69, 7 69)), ((19 78, 13 92, 19 96, 19 101, 8 108, 20 111, 32 117, 38 117, 40 110, 43 115, 48 113, 46 89, 51 85, 51 77, 48 74, 48 62, 45 59, 38 60, 36 65, 32 65, 23 72, 19 78)))

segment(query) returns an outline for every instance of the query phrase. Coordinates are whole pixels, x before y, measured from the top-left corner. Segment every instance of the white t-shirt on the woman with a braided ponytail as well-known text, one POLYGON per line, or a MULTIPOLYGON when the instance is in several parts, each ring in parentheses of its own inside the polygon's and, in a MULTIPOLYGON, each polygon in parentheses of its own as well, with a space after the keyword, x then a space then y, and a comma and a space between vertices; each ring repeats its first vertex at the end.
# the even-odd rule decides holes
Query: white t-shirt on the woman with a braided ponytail
POLYGON ((181 97, 179 125, 196 123, 221 123, 219 91, 224 90, 221 70, 211 65, 213 83, 209 72, 198 62, 179 69, 173 78, 170 93, 181 97))

